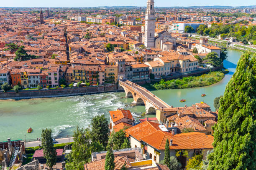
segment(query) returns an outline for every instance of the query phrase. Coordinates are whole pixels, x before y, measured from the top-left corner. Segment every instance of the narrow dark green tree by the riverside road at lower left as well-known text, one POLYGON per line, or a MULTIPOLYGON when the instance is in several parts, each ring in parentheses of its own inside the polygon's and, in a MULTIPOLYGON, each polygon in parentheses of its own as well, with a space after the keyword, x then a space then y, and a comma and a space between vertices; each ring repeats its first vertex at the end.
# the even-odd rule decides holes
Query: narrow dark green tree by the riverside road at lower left
POLYGON ((54 148, 53 139, 51 137, 51 129, 42 130, 42 146, 44 158, 46 159, 46 165, 50 170, 53 170, 53 166, 56 165, 56 149, 54 148))

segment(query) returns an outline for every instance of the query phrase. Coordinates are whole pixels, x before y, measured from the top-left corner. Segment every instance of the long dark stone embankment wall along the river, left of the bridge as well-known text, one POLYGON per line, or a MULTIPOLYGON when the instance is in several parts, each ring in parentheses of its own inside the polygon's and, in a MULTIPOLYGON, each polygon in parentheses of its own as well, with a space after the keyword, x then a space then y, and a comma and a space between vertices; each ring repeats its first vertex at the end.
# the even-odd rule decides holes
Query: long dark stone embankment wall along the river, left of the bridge
POLYGON ((59 88, 49 90, 20 90, 18 93, 10 90, 8 92, 0 91, 0 100, 4 99, 30 99, 43 97, 62 97, 72 95, 86 95, 98 92, 119 91, 118 85, 99 85, 90 87, 59 88))

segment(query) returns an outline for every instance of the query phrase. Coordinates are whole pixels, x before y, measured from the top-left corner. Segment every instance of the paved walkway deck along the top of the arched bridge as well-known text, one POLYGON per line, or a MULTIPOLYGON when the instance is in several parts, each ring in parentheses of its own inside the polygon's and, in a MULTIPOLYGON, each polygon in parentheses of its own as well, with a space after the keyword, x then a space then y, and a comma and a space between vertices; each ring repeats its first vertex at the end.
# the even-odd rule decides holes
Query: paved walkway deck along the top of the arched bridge
POLYGON ((158 97, 154 96, 151 92, 149 92, 146 88, 143 88, 135 83, 132 83, 130 81, 124 81, 125 84, 133 87, 134 89, 138 90, 141 94, 143 94, 144 96, 146 96, 149 100, 151 100, 152 102, 154 102, 155 105, 157 105, 160 108, 168 108, 170 107, 169 105, 167 105, 166 103, 164 103, 164 101, 162 101, 161 99, 159 99, 158 97))

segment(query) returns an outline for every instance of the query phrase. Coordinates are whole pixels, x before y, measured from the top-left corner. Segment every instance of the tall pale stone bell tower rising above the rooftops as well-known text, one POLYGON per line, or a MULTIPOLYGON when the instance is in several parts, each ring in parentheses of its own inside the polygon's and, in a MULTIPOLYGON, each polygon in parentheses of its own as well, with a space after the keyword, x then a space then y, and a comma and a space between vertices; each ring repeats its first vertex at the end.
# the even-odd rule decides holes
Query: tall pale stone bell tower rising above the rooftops
POLYGON ((155 10, 154 0, 148 0, 145 16, 145 46, 155 47, 155 10))

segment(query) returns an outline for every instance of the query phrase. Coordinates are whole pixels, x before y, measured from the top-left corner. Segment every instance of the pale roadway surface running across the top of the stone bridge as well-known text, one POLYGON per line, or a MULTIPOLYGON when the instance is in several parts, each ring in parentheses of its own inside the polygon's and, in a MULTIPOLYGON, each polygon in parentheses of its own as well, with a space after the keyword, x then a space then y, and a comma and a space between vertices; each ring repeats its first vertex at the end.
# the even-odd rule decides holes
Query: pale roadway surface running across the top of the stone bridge
POLYGON ((152 96, 151 93, 147 92, 147 89, 145 89, 145 90, 141 89, 135 83, 131 83, 131 82, 127 82, 127 81, 124 82, 124 83, 129 85, 129 86, 132 86, 134 89, 138 90, 141 94, 143 94, 148 99, 150 99, 152 102, 154 102, 155 105, 157 105, 158 107, 167 108, 167 106, 163 102, 161 102, 161 100, 159 100, 157 97, 152 96))

